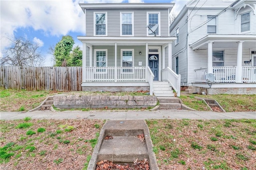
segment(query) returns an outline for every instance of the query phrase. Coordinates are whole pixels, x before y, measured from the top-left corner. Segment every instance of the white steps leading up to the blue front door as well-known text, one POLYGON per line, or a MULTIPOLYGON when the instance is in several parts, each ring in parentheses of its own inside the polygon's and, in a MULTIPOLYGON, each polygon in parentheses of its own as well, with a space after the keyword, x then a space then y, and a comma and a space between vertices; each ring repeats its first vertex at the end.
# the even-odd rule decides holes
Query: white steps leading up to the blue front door
POLYGON ((174 97, 169 82, 153 82, 153 92, 156 97, 174 97))

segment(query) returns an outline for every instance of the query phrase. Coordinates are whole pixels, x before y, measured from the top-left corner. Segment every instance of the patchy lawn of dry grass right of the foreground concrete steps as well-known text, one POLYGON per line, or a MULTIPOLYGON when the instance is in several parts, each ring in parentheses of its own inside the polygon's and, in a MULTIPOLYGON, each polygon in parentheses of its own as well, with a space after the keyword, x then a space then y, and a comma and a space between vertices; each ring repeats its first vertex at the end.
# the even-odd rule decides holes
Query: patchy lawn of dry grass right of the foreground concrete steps
POLYGON ((256 169, 256 120, 149 120, 161 170, 256 169))

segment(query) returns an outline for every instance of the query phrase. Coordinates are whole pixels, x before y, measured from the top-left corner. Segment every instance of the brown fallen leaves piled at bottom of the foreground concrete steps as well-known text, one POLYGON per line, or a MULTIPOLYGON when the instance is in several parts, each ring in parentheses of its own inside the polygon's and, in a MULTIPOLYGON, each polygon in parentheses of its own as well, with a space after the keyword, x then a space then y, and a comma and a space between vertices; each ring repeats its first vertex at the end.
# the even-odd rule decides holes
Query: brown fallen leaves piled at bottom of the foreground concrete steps
POLYGON ((144 160, 134 160, 131 166, 129 164, 115 164, 108 160, 102 160, 96 163, 96 170, 150 170, 150 165, 148 160, 145 158, 144 160))

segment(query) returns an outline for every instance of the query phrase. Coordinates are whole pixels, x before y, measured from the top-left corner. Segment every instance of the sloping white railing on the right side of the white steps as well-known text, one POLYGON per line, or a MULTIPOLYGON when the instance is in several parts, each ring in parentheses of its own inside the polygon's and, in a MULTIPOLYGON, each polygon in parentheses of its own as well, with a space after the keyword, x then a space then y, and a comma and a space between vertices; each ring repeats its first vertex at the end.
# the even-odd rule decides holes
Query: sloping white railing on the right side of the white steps
POLYGON ((169 67, 162 70, 162 78, 164 81, 168 81, 172 88, 176 91, 177 96, 180 97, 180 74, 176 74, 169 67))

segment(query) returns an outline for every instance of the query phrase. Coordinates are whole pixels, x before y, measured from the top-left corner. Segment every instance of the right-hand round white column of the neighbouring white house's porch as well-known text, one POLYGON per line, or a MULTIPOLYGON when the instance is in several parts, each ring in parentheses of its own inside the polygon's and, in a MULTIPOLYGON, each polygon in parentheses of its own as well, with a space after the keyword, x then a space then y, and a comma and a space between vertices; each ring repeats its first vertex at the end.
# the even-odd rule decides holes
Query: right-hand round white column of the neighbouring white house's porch
POLYGON ((242 83, 242 53, 243 53, 243 42, 239 41, 237 47, 237 60, 236 60, 236 82, 242 83))

